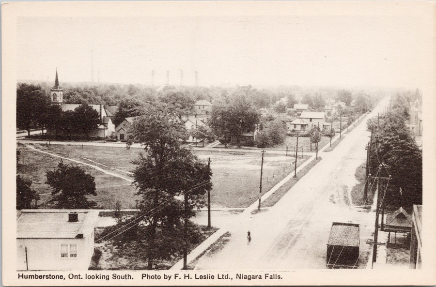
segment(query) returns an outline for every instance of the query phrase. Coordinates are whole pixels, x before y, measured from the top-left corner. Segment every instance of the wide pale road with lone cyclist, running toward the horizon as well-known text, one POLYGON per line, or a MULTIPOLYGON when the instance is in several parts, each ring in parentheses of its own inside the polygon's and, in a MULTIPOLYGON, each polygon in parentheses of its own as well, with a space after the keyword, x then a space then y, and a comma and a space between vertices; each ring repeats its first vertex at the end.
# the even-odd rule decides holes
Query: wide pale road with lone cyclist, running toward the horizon
MULTIPOLYGON (((374 109, 382 110, 386 100, 374 109)), ((365 162, 365 144, 369 138, 362 121, 331 152, 321 153, 323 160, 300 179, 268 211, 229 216, 221 221, 231 233, 231 241, 217 254, 201 257, 196 269, 274 270, 325 268, 326 243, 332 221, 360 224, 361 258, 369 251, 364 243, 373 232, 374 212, 363 212, 346 204, 347 193, 357 181, 356 168, 365 162), (252 241, 246 236, 250 230, 252 241)), ((364 261, 364 260, 363 260, 364 261)))

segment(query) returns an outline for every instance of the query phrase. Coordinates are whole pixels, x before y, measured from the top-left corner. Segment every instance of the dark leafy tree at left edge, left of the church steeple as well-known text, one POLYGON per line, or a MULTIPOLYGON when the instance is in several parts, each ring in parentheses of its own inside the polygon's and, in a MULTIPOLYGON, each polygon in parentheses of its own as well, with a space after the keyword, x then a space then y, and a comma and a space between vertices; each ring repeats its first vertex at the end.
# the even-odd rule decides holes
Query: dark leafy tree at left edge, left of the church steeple
POLYGON ((33 84, 20 84, 16 89, 16 125, 30 136, 33 126, 40 124, 41 115, 48 107, 48 98, 41 88, 33 84))

